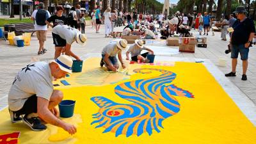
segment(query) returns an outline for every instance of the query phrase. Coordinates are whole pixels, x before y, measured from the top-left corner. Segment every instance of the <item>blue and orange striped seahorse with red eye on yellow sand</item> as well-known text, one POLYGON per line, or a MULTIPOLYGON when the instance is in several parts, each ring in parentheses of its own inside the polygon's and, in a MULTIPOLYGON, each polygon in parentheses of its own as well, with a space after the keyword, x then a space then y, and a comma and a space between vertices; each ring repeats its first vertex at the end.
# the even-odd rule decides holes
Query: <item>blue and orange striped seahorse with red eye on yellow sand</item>
POLYGON ((194 98, 193 95, 177 86, 170 84, 176 74, 168 70, 156 68, 139 68, 134 72, 149 74, 152 71, 161 75, 149 79, 138 79, 118 84, 115 93, 131 104, 119 104, 106 97, 92 97, 91 100, 99 106, 99 113, 93 114, 92 124, 104 127, 104 132, 115 132, 115 136, 132 134, 140 136, 144 132, 160 132, 164 119, 180 111, 180 104, 174 96, 194 98), (168 85, 169 84, 169 85, 168 85))

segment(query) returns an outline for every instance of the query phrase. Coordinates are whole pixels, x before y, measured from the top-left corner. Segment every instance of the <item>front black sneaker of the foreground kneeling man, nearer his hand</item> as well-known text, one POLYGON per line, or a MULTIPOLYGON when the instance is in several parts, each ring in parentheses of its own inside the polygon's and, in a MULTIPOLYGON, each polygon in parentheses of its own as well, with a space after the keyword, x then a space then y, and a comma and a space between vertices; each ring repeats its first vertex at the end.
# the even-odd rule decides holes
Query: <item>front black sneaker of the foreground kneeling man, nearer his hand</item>
POLYGON ((41 124, 39 118, 27 118, 25 115, 22 118, 22 121, 27 124, 33 131, 44 131, 47 128, 46 125, 41 124))

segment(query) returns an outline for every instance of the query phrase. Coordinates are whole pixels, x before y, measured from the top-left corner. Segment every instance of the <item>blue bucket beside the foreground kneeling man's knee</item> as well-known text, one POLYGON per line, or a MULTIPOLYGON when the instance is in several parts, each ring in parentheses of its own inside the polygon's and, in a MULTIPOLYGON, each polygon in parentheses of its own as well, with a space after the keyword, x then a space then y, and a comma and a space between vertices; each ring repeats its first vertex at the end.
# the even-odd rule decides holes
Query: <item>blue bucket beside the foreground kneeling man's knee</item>
POLYGON ((74 115, 76 101, 62 100, 59 104, 60 116, 63 118, 70 118, 74 115))

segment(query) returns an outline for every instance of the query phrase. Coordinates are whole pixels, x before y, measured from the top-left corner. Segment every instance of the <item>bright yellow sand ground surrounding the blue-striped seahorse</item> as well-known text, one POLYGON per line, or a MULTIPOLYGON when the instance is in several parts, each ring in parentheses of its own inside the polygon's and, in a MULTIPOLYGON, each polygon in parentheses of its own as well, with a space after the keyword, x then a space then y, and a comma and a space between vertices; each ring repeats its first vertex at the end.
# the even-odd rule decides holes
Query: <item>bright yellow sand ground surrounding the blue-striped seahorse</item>
MULTIPOLYGON (((95 69, 99 65, 99 59, 92 58, 84 61, 83 72, 95 69), (88 67, 88 65, 94 65, 88 67)), ((79 74, 72 74, 67 78, 71 86, 58 86, 64 93, 64 99, 76 100, 75 115, 65 118, 66 122, 77 125, 77 133, 69 136, 60 128, 47 124, 48 129, 42 132, 30 131, 22 122, 10 123, 7 109, 0 111, 0 133, 20 131, 20 143, 97 143, 97 144, 253 144, 256 143, 256 127, 237 108, 220 84, 211 76, 202 63, 176 62, 174 67, 130 65, 129 73, 134 68, 159 68, 170 70, 177 74, 172 82, 179 88, 188 90, 195 95, 195 99, 176 97, 180 103, 180 111, 174 116, 163 121, 164 129, 148 136, 125 135, 115 137, 115 133, 102 133, 104 128, 95 129, 92 114, 99 108, 90 98, 104 96, 118 103, 129 103, 114 93, 118 83, 158 76, 158 72, 152 74, 133 74, 130 79, 115 84, 103 86, 81 86, 74 83, 79 74), (74 85, 73 85, 74 84, 74 85)), ((122 80, 124 77, 120 77, 122 80)), ((58 83, 55 82, 55 83, 58 83)), ((62 84, 60 84, 62 85, 62 84)))

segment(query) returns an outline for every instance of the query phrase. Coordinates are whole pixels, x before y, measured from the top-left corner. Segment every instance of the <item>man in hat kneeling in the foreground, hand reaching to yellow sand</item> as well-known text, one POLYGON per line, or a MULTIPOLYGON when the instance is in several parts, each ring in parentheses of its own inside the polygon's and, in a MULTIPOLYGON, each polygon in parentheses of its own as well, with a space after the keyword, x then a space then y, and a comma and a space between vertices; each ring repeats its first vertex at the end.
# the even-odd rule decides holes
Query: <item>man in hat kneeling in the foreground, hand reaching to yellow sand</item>
POLYGON ((33 131, 47 129, 44 122, 63 128, 69 134, 75 134, 74 125, 58 118, 59 111, 55 107, 63 99, 60 90, 53 90, 52 81, 72 73, 72 59, 61 55, 49 63, 39 61, 22 68, 18 72, 8 94, 8 105, 13 123, 28 125, 33 131), (20 116, 23 116, 21 118, 20 116))

